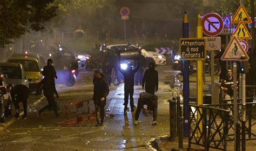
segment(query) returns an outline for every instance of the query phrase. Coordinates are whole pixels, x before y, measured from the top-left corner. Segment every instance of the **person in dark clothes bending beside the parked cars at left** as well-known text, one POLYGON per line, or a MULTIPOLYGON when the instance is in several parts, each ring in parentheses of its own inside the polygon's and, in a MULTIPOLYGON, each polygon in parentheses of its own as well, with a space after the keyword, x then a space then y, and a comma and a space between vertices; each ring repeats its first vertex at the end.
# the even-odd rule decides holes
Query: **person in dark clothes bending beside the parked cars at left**
POLYGON ((24 111, 22 119, 26 119, 26 113, 28 110, 27 102, 29 98, 29 88, 22 84, 16 85, 14 89, 11 90, 11 98, 16 111, 14 118, 19 118, 19 103, 22 102, 24 111))

